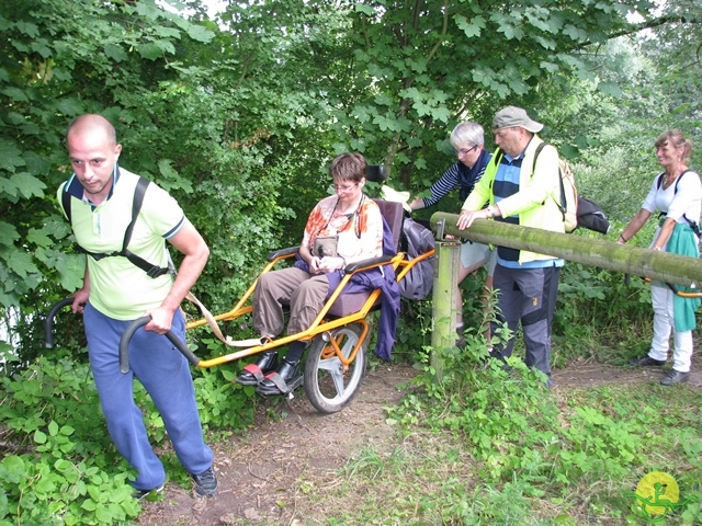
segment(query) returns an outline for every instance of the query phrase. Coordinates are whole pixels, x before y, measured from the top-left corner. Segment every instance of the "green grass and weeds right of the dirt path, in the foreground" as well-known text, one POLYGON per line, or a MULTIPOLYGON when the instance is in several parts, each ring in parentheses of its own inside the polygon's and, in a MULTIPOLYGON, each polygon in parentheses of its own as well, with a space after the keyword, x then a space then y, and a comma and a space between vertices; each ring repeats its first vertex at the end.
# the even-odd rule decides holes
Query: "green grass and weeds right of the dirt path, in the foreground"
POLYGON ((521 378, 420 377, 426 391, 390 410, 397 438, 361 448, 332 482, 307 476, 316 498, 296 516, 330 526, 643 525, 635 489, 659 470, 681 500, 697 499, 663 524, 702 524, 702 392, 657 384, 548 392, 516 367, 521 378))

